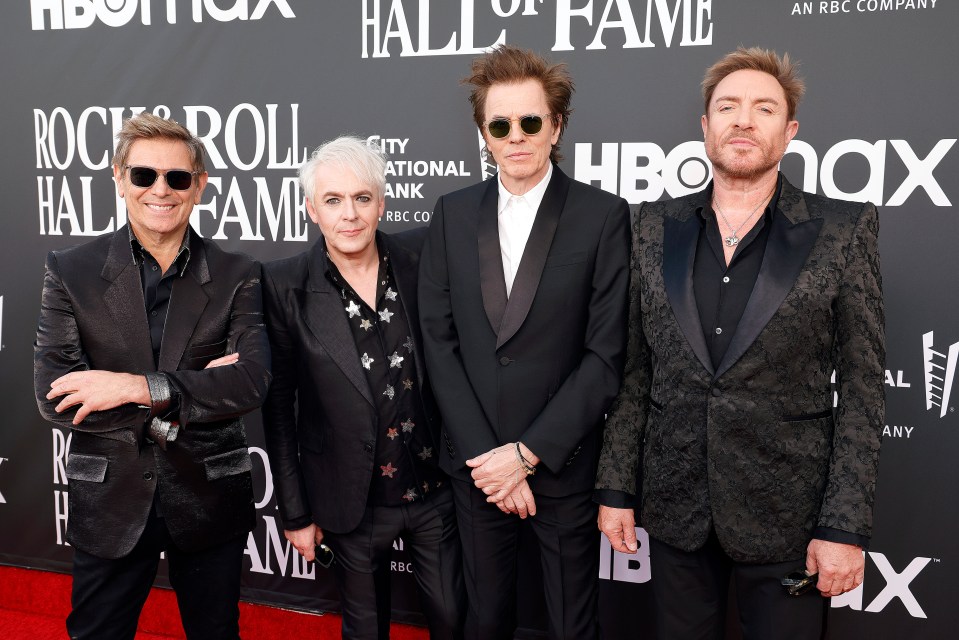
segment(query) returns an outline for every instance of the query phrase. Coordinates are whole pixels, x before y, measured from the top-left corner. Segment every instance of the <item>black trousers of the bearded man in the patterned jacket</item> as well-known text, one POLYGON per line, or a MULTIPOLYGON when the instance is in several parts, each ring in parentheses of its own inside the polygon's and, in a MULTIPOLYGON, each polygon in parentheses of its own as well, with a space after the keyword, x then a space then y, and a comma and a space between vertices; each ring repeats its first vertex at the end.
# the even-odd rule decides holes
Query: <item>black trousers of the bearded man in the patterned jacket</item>
POLYGON ((723 551, 715 532, 697 551, 681 551, 652 537, 649 550, 660 640, 723 640, 730 586, 743 640, 825 637, 829 598, 815 588, 790 596, 780 582, 787 573, 805 568, 805 557, 774 564, 736 562, 723 551))

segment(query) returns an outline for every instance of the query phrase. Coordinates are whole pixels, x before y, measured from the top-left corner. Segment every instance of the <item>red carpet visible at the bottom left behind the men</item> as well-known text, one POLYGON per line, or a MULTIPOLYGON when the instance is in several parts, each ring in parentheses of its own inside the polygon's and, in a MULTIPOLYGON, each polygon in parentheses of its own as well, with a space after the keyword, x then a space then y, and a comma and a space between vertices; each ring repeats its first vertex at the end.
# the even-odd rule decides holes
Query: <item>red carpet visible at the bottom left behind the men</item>
MULTIPOLYGON (((62 640, 70 611, 70 576, 0 566, 0 638, 3 640, 62 640)), ((288 640, 340 637, 340 617, 310 615, 263 605, 240 603, 240 636, 244 640, 288 640)), ((167 589, 153 589, 143 613, 137 640, 185 638, 176 598, 167 589)), ((394 624, 394 640, 425 640, 426 629, 394 624)))

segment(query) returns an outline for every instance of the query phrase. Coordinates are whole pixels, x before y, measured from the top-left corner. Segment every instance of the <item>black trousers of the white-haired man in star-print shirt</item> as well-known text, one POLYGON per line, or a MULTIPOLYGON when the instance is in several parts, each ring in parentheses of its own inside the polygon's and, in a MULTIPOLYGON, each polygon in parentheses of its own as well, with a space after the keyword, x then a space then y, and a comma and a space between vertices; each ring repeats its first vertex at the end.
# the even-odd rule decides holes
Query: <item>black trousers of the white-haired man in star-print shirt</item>
POLYGON ((390 560, 403 538, 413 565, 430 638, 463 637, 466 594, 453 497, 448 490, 398 507, 367 506, 359 526, 324 532, 343 607, 343 638, 390 637, 390 560))

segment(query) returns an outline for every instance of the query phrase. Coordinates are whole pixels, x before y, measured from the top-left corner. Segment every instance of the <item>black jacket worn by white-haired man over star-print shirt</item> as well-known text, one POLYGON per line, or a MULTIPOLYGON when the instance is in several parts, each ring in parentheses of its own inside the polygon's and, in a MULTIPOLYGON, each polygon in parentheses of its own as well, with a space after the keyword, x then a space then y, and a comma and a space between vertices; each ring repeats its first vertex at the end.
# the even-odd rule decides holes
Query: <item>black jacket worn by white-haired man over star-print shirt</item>
MULTIPOLYGON (((413 335, 417 388, 434 439, 438 412, 423 364, 416 275, 425 229, 385 235, 413 335)), ((373 479, 378 417, 343 301, 326 277, 326 244, 265 267, 273 385, 263 406, 284 527, 347 533, 360 523, 373 479)), ((377 470, 378 472, 379 470, 377 470)))

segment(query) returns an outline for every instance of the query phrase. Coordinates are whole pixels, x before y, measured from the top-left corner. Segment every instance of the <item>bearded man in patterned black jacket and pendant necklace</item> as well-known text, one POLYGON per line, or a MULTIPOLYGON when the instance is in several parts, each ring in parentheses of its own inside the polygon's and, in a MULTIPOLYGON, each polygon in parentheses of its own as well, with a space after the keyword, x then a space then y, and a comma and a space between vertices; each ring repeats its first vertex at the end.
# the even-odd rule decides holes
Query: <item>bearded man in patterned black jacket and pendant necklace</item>
POLYGON ((878 214, 779 172, 804 91, 788 56, 740 48, 702 88, 712 182, 645 204, 634 222, 600 528, 614 549, 636 552, 642 452, 658 637, 723 638, 732 588, 746 640, 816 640, 828 597, 861 584, 872 532, 885 360, 878 214))

